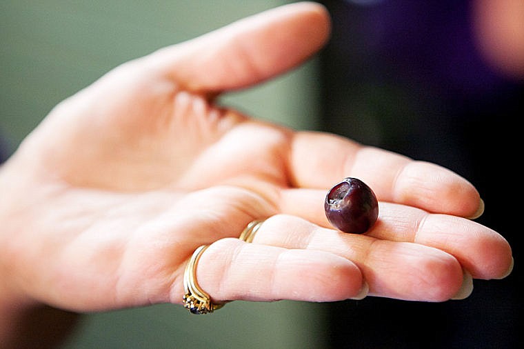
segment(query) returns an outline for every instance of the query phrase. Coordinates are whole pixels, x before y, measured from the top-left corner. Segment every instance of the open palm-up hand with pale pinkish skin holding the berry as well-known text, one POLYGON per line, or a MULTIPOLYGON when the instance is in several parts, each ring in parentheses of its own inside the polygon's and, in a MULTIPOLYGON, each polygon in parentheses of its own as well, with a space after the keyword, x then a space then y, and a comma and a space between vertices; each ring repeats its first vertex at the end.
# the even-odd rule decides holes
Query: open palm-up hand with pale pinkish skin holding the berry
POLYGON ((329 31, 319 5, 277 8, 125 63, 54 108, 0 169, 0 339, 42 304, 180 304, 202 244, 197 279, 214 301, 445 301, 508 275, 511 248, 470 219, 483 202, 462 177, 214 103, 299 65, 329 31), (344 177, 380 201, 365 235, 325 219, 344 177), (245 243, 253 219, 268 220, 245 243))

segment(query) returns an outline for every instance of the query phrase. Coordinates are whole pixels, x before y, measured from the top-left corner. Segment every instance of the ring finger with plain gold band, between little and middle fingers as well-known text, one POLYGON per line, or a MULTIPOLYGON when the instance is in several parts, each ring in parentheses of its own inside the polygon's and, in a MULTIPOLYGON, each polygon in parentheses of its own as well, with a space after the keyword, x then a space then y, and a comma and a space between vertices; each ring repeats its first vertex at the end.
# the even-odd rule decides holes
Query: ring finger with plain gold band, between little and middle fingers
POLYGON ((329 252, 358 266, 370 295, 416 301, 445 301, 461 291, 461 264, 443 250, 345 234, 299 217, 278 215, 264 221, 252 243, 329 252))

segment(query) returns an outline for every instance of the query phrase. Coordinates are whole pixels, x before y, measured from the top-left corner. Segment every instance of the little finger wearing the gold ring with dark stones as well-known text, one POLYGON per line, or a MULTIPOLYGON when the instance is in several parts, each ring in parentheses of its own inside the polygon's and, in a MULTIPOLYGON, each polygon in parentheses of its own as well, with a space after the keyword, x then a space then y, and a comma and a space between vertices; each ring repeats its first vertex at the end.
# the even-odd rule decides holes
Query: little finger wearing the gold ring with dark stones
MULTIPOLYGON (((196 281, 215 302, 338 301, 367 293, 351 261, 320 250, 287 249, 221 239, 203 252, 196 281)), ((181 300, 181 282, 173 301, 181 300)))

